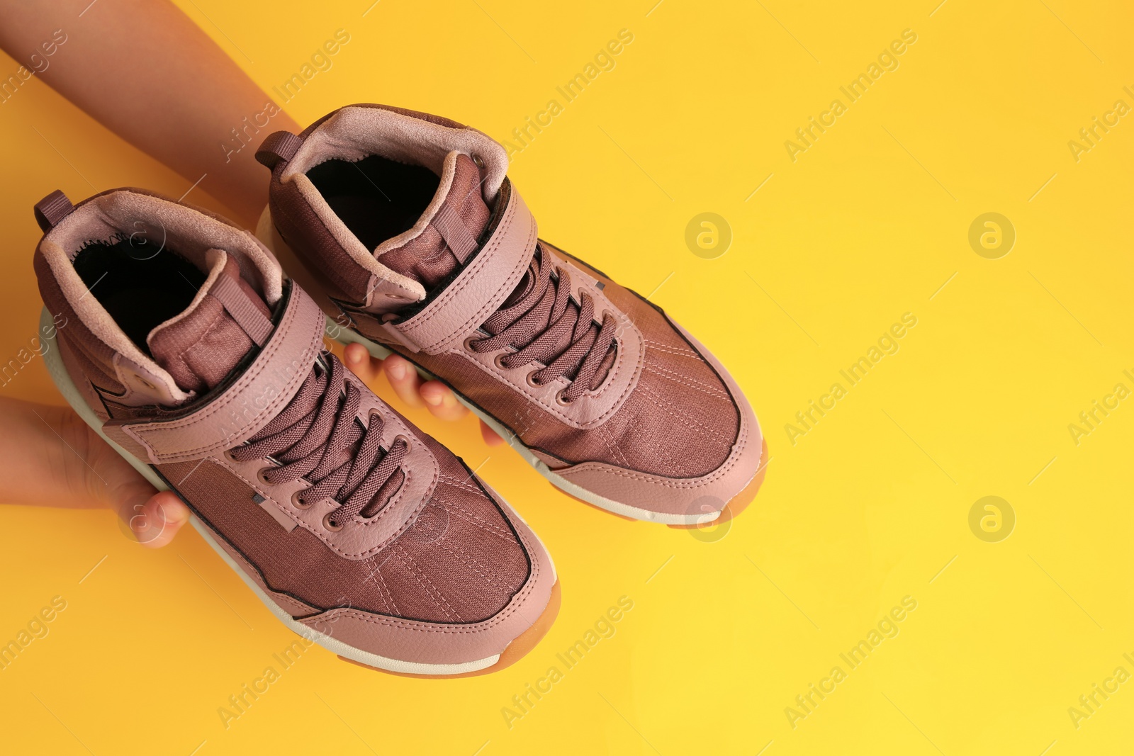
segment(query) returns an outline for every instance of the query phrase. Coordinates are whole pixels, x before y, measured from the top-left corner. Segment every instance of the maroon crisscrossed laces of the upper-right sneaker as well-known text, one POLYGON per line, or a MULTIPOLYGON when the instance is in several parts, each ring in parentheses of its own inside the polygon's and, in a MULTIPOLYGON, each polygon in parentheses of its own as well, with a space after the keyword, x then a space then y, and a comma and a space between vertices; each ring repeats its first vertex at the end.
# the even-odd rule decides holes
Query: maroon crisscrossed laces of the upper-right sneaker
POLYGON ((471 339, 468 347, 476 352, 516 349, 497 358, 500 367, 543 363, 545 367, 527 377, 534 385, 566 375, 569 384, 556 399, 568 405, 598 388, 593 381, 615 340, 617 321, 604 313, 602 325, 596 325, 594 301, 585 292, 578 304, 572 300, 570 273, 555 265, 542 248, 521 286, 524 288, 513 304, 505 303, 484 321, 481 328, 490 335, 471 339))

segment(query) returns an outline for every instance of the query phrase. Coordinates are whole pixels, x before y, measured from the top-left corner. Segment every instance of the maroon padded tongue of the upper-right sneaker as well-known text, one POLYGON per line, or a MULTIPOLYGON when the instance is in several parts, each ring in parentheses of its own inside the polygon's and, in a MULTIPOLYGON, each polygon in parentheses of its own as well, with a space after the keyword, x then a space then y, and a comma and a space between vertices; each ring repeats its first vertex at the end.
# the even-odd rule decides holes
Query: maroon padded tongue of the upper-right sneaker
POLYGON ((414 224, 424 229, 405 241, 379 245, 374 255, 390 270, 430 290, 464 263, 491 216, 481 193, 481 172, 468 155, 450 152, 433 201, 414 224))

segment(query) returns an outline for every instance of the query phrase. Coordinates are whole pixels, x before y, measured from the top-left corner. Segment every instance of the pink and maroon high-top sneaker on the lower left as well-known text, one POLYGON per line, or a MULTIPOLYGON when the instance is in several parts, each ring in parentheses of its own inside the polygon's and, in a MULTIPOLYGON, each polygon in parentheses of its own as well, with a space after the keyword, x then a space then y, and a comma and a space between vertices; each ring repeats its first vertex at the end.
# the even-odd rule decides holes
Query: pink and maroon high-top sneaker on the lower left
POLYGON ((558 610, 543 545, 324 350, 323 313, 252 233, 137 189, 35 214, 56 384, 285 625, 405 674, 535 645, 558 610))

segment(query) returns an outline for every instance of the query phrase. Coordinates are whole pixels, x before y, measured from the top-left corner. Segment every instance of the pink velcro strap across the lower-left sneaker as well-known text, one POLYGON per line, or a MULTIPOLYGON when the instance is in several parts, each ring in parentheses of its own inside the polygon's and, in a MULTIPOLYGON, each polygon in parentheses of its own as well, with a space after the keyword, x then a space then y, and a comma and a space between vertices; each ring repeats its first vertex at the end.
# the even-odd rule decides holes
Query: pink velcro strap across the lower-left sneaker
POLYGON ((184 462, 231 449, 255 435, 291 401, 323 348, 325 317, 295 283, 280 324, 240 377, 196 411, 170 421, 121 425, 153 464, 184 462))

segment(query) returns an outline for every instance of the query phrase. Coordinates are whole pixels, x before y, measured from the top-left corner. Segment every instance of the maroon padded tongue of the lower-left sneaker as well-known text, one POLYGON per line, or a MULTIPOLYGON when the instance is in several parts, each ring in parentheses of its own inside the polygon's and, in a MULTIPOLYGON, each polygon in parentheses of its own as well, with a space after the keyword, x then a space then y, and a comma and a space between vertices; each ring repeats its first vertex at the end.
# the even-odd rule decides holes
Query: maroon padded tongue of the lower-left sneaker
POLYGON ((209 278, 179 315, 146 337, 154 362, 183 391, 212 389, 272 331, 271 311, 240 278, 240 266, 221 249, 205 253, 209 278))

